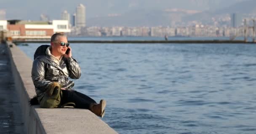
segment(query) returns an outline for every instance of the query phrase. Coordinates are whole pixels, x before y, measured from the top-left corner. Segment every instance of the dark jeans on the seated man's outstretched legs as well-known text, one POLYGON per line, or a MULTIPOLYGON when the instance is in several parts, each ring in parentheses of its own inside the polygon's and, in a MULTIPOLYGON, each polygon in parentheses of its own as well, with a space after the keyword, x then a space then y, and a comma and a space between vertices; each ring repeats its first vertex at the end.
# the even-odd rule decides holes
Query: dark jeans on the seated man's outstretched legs
POLYGON ((96 103, 92 98, 83 93, 79 93, 75 90, 61 90, 62 98, 61 105, 72 102, 75 103, 75 108, 89 109, 90 104, 96 103))

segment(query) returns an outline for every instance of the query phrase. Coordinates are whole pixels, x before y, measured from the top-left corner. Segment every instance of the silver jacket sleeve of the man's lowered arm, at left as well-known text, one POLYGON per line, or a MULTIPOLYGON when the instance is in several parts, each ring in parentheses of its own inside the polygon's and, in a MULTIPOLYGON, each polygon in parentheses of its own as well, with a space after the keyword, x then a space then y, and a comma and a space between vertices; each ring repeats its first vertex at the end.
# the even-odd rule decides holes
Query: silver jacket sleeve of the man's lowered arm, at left
POLYGON ((32 80, 35 88, 44 91, 52 83, 50 80, 45 80, 45 64, 38 60, 34 60, 32 65, 32 80))

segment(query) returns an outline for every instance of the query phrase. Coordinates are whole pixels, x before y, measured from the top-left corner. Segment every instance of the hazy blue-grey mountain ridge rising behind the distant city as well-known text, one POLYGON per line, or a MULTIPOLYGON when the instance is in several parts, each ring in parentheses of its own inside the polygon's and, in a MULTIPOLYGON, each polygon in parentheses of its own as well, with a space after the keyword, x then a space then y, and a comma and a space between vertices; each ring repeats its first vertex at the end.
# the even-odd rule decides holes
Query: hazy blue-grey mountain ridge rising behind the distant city
POLYGON ((238 0, 237 3, 225 8, 205 11, 195 10, 195 13, 190 14, 188 13, 189 10, 179 8, 170 8, 168 11, 166 11, 167 9, 136 10, 136 12, 131 11, 112 18, 91 18, 88 19, 88 26, 173 26, 175 24, 173 24, 172 21, 184 25, 186 25, 185 22, 187 21, 203 21, 210 23, 211 18, 217 15, 253 13, 253 11, 256 11, 253 5, 256 5, 256 0, 238 0), (244 10, 245 7, 246 10, 244 10), (177 12, 173 12, 172 10, 174 9, 176 9, 177 12))

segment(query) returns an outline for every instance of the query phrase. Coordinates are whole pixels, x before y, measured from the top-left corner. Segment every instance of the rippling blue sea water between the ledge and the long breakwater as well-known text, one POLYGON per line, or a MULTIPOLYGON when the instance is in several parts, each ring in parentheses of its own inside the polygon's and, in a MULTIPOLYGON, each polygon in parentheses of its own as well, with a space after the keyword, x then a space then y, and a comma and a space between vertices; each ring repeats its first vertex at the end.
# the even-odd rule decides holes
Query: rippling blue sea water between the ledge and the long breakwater
MULTIPOLYGON (((20 46, 32 58, 39 44, 20 46)), ((72 44, 75 88, 121 134, 255 134, 256 46, 72 44)))

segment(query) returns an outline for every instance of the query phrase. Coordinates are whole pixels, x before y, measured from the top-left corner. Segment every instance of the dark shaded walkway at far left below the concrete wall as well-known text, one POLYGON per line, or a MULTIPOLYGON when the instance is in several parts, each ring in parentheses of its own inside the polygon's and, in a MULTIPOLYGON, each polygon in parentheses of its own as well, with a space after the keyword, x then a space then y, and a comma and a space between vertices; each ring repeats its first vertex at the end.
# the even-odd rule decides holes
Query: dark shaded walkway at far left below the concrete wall
POLYGON ((24 134, 19 98, 6 51, 5 44, 0 44, 0 133, 24 134))

